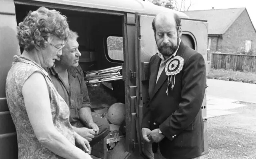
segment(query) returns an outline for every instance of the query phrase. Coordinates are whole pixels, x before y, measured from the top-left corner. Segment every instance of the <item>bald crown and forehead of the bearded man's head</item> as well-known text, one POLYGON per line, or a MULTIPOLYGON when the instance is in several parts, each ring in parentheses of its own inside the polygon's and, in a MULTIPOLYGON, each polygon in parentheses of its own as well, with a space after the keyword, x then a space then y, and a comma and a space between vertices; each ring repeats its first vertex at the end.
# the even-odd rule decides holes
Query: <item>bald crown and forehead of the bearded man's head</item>
POLYGON ((178 30, 181 27, 180 17, 176 13, 172 12, 161 12, 152 21, 152 29, 156 33, 156 25, 160 25, 162 22, 171 23, 176 25, 178 30))

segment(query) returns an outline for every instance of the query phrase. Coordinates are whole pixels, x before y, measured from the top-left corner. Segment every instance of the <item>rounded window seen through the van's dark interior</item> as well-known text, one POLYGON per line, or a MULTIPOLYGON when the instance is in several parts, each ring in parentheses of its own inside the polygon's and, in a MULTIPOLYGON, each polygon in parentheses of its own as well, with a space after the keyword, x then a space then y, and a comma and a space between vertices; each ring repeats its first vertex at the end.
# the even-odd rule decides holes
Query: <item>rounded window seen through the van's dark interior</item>
POLYGON ((107 38, 107 47, 110 59, 124 61, 123 37, 109 36, 107 38))

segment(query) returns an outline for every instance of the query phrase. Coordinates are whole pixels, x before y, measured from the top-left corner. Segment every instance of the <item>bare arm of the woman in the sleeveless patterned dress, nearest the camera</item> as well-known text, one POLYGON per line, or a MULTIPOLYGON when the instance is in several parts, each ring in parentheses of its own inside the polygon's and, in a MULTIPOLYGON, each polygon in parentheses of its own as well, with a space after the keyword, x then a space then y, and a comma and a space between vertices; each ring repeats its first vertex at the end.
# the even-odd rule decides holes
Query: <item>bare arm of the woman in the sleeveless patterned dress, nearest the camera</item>
POLYGON ((91 159, 88 153, 70 143, 54 128, 49 92, 41 73, 34 73, 26 80, 22 94, 28 118, 42 145, 66 159, 91 159))

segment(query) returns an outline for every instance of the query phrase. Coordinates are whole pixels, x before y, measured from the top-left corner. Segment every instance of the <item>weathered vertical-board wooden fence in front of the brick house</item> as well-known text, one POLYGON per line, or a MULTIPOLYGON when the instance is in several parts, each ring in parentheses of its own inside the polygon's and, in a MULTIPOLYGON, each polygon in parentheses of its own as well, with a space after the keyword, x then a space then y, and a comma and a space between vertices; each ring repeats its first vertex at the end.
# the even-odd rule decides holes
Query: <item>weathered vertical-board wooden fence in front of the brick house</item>
POLYGON ((211 53, 211 68, 256 73, 256 55, 211 53))

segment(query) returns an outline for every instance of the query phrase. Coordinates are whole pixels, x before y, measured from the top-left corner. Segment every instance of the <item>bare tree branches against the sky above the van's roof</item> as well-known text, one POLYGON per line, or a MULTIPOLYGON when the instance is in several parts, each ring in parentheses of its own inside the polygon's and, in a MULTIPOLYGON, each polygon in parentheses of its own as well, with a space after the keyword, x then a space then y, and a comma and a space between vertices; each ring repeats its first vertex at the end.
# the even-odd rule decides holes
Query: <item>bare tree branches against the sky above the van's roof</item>
POLYGON ((192 0, 148 0, 157 6, 163 6, 178 11, 188 11, 193 5, 192 0))

